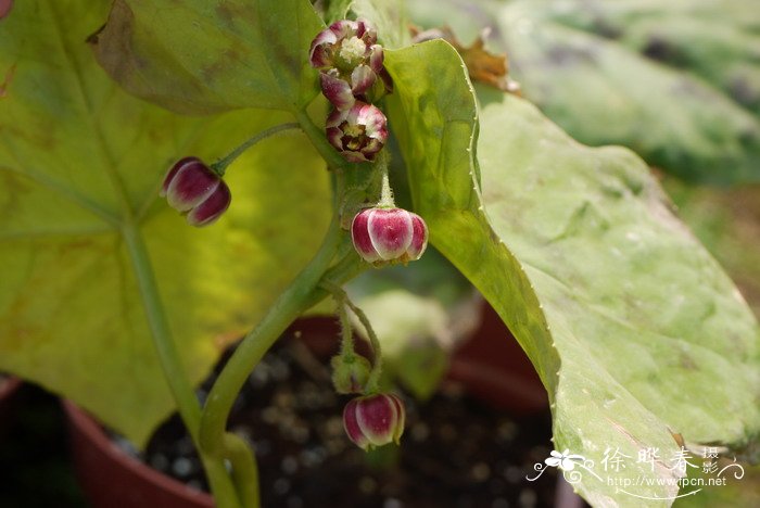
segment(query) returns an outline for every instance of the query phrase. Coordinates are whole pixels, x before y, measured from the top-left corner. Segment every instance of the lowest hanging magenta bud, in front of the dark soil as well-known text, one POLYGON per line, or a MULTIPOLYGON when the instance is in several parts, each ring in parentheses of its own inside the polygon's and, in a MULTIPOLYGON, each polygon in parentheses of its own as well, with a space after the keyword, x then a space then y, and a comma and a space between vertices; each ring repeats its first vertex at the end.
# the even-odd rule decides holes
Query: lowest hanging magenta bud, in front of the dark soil
POLYGON ((365 452, 394 442, 404 433, 406 414, 397 395, 380 393, 357 397, 343 409, 343 428, 349 439, 365 452))

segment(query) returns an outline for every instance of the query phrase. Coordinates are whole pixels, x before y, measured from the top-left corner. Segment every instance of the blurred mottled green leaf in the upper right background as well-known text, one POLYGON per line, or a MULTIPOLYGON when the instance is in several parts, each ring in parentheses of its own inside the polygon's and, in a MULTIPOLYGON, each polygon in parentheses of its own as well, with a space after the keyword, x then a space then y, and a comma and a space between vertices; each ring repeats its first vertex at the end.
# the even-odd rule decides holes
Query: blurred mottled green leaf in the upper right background
POLYGON ((414 1, 419 23, 492 26, 524 96, 582 142, 711 183, 760 181, 760 9, 744 0, 414 1))

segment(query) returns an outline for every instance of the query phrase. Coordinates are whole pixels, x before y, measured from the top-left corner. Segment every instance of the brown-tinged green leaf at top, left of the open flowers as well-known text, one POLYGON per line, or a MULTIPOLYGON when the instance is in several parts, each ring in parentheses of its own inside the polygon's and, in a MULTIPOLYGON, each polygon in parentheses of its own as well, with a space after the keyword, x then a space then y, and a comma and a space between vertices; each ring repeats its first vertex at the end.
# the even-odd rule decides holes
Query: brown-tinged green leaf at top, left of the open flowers
POLYGON ((169 110, 290 111, 317 94, 307 49, 322 27, 306 0, 115 0, 92 40, 115 80, 169 110))

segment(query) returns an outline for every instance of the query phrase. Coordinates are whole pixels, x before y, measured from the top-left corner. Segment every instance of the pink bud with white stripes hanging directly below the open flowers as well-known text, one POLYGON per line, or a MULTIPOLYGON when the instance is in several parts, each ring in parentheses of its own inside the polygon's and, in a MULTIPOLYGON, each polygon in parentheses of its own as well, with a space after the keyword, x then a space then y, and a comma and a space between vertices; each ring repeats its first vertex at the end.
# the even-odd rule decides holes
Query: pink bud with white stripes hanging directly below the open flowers
POLYGON ((403 208, 366 208, 351 224, 354 249, 368 263, 408 263, 428 246, 428 226, 403 208))

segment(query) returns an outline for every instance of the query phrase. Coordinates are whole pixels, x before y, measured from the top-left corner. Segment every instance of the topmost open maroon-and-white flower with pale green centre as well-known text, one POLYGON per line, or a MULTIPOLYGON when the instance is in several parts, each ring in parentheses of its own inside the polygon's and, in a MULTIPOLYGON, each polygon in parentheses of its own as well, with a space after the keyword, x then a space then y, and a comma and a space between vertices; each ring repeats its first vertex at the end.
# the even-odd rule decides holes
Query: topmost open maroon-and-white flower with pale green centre
MULTIPOLYGON (((320 31, 312 41, 309 62, 321 71, 322 93, 338 109, 347 110, 356 98, 364 98, 378 78, 390 90, 390 76, 383 67, 382 46, 369 22, 342 20, 320 31)), ((372 97, 381 93, 377 87, 372 97)))

